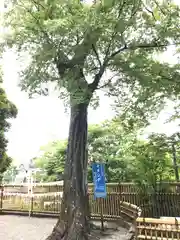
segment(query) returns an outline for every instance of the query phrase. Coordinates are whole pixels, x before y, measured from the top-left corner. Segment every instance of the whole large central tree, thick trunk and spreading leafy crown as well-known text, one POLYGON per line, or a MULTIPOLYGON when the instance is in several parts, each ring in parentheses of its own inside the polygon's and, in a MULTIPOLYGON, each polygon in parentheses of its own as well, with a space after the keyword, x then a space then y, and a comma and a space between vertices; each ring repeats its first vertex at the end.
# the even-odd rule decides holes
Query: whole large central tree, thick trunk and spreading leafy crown
POLYGON ((22 89, 43 93, 54 82, 69 97, 64 201, 48 239, 87 239, 89 103, 100 88, 118 92, 122 101, 129 97, 137 109, 179 93, 177 66, 155 60, 178 44, 179 7, 159 0, 14 0, 7 6, 5 45, 28 59, 22 89))

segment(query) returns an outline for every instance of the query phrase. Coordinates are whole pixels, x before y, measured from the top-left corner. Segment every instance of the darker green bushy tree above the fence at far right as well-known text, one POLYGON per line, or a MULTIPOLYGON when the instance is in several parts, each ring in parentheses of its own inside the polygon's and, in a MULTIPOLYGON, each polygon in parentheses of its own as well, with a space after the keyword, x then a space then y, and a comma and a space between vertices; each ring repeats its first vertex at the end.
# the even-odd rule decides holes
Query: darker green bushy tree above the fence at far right
POLYGON ((132 148, 134 181, 152 192, 159 182, 174 178, 171 149, 165 144, 166 135, 152 134, 132 148))

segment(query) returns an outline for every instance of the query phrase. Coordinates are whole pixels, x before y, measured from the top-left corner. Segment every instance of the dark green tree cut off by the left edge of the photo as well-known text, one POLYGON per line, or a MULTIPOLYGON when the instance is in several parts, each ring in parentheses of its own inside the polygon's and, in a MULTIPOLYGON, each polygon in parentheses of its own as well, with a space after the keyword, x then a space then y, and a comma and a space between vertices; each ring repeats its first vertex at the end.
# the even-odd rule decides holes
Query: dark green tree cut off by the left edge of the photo
POLYGON ((0 75, 0 181, 3 173, 8 169, 12 159, 7 155, 7 139, 5 133, 10 127, 8 119, 17 115, 17 108, 10 102, 2 88, 2 75, 0 75))

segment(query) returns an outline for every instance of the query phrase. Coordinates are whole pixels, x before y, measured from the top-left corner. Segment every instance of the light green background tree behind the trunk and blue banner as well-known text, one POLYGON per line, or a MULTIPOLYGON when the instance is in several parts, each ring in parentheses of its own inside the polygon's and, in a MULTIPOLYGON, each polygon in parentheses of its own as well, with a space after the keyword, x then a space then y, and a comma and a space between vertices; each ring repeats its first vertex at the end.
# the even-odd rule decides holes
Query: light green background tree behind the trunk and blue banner
MULTIPOLYGON (((106 163, 108 182, 128 181, 127 171, 123 172, 122 168, 124 170, 127 168, 124 157, 128 154, 125 155, 125 152, 134 140, 135 136, 132 133, 125 134, 119 121, 116 120, 89 126, 88 181, 92 182, 91 164, 95 161, 106 163)), ((45 173, 42 180, 63 179, 66 149, 67 141, 53 142, 42 148, 42 156, 36 159, 36 167, 43 169, 45 173)))

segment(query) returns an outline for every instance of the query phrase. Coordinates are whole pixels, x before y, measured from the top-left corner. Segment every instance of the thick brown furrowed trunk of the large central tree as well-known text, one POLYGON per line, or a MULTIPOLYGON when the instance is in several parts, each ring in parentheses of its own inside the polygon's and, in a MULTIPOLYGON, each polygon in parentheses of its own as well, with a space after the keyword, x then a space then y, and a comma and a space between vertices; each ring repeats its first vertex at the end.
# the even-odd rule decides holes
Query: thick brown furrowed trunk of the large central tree
POLYGON ((47 240, 88 239, 87 108, 83 103, 71 107, 62 210, 47 240))

